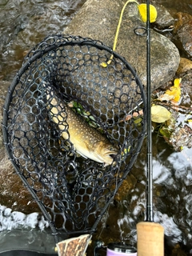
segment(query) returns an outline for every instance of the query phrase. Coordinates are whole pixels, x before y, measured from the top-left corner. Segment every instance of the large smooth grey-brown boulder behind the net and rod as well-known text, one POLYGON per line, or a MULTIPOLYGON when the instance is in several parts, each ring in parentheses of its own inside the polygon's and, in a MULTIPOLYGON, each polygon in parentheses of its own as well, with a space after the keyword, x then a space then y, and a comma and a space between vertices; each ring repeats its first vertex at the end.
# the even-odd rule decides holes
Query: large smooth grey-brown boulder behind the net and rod
MULTIPOLYGON (((80 35, 102 41, 113 47, 118 19, 125 1, 87 0, 82 9, 64 30, 64 34, 80 35)), ((122 17, 115 51, 133 66, 146 86, 146 36, 138 36, 134 29, 146 26, 139 16, 138 6, 130 2, 122 17)), ((178 49, 169 39, 151 30, 151 87, 157 89, 174 78, 179 64, 178 49)))

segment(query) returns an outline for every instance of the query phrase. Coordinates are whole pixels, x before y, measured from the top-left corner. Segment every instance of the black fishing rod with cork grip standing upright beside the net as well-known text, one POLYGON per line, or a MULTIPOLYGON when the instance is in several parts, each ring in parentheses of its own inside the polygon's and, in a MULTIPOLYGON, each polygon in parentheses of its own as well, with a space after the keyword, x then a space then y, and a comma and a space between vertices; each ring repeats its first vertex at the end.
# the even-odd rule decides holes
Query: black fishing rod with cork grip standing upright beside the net
POLYGON ((153 210, 153 165, 152 165, 152 124, 150 86, 150 0, 146 0, 146 122, 147 122, 147 162, 146 162, 146 221, 137 224, 138 256, 164 255, 164 229, 154 223, 153 210))

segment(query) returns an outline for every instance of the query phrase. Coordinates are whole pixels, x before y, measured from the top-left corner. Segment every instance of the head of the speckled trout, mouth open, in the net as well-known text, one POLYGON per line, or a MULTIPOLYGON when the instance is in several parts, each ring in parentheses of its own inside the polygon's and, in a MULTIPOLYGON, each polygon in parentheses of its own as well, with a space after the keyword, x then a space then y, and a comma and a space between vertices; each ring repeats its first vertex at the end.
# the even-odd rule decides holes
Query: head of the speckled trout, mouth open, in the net
POLYGON ((104 166, 110 166, 114 162, 114 157, 118 154, 117 147, 106 141, 100 141, 94 144, 94 152, 97 155, 97 158, 105 163, 104 166))

